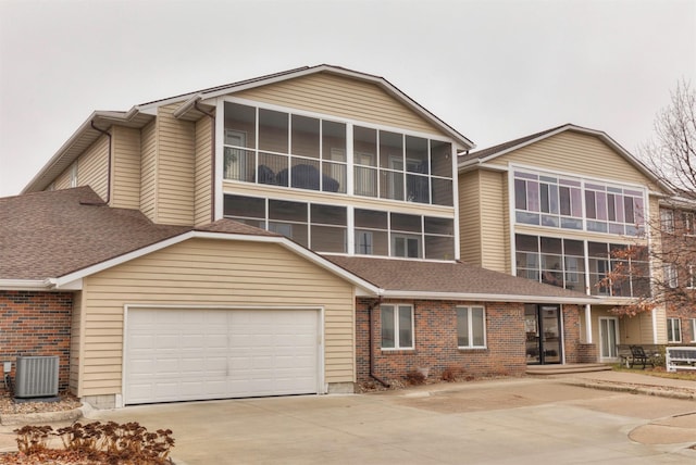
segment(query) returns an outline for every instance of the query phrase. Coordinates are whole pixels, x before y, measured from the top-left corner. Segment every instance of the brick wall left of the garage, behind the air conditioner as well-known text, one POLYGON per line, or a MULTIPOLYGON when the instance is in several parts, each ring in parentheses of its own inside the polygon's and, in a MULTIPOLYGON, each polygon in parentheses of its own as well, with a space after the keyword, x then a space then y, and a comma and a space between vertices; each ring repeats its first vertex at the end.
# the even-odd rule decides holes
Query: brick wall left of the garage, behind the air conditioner
POLYGON ((70 292, 0 291, 0 362, 12 362, 13 379, 17 356, 59 355, 59 390, 67 389, 72 307, 70 292))

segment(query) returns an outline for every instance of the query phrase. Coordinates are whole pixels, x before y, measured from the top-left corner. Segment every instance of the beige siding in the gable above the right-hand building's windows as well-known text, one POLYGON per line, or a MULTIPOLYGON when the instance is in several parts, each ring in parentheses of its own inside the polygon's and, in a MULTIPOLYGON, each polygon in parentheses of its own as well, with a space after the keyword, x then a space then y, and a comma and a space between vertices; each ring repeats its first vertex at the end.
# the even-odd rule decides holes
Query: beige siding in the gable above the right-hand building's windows
POLYGON ((495 159, 492 163, 524 164, 562 173, 633 184, 647 177, 597 137, 564 131, 495 159))

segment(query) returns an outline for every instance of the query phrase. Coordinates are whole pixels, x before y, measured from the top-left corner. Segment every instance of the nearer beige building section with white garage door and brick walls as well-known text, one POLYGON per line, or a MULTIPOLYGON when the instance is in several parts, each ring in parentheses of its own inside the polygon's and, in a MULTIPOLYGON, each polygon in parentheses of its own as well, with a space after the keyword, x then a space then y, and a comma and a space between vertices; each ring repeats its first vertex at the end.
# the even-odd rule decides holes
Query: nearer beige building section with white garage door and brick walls
POLYGON ((472 148, 330 65, 95 112, 0 200, 0 357, 98 407, 594 362, 596 297, 460 260, 472 148))

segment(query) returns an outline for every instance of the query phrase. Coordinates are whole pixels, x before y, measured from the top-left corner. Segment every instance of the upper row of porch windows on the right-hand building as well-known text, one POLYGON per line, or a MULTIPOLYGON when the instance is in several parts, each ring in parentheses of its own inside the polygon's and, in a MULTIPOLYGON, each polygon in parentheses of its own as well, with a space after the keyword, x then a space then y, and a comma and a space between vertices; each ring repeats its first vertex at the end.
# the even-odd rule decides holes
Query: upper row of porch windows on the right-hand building
POLYGON ((644 197, 634 188, 515 171, 514 205, 521 224, 627 236, 644 231, 644 197))

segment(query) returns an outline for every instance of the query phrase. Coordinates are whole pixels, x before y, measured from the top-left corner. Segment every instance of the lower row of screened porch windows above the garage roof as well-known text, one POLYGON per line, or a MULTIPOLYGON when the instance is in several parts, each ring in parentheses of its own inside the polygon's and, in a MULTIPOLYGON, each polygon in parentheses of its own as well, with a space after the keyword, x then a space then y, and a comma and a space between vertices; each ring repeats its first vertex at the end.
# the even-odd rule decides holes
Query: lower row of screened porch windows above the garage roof
MULTIPOLYGON (((455 260, 455 221, 355 209, 353 253, 455 260)), ((316 252, 348 253, 345 206, 225 194, 224 215, 289 237, 316 252)))

